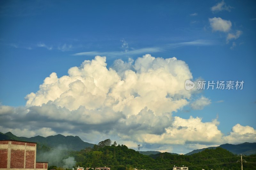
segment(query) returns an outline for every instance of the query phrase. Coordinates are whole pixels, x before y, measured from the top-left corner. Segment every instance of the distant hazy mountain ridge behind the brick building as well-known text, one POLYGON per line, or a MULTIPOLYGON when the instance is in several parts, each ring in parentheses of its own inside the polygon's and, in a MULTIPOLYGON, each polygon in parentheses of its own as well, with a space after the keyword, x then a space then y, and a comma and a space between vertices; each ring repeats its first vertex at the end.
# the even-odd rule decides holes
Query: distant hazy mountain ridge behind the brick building
POLYGON ((90 144, 88 142, 82 141, 82 139, 78 136, 63 136, 63 135, 54 135, 48 137, 36 136, 36 137, 17 137, 13 135, 11 132, 1 133, 0 132, 0 140, 18 140, 18 141, 27 141, 27 142, 35 142, 40 145, 46 145, 50 147, 63 147, 65 149, 80 151, 84 148, 90 147, 92 148, 94 144, 90 144))

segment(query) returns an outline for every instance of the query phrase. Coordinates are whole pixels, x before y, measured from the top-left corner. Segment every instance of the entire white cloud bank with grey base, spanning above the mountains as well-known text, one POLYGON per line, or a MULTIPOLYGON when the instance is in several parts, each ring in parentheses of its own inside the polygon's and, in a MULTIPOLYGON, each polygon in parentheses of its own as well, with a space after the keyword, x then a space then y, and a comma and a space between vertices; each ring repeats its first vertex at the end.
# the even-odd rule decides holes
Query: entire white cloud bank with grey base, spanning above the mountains
MULTIPOLYGON (((0 106, 0 131, 26 137, 77 135, 96 144, 111 138, 133 147, 216 145, 240 141, 237 137, 255 141, 252 127, 236 125, 224 136, 217 120, 173 117, 194 95, 185 90, 188 79, 193 79, 188 65, 175 57, 147 54, 107 68, 106 57, 96 56, 70 68, 68 75, 45 78, 37 92, 26 96, 25 107, 0 106)), ((191 107, 210 103, 201 96, 191 107)))

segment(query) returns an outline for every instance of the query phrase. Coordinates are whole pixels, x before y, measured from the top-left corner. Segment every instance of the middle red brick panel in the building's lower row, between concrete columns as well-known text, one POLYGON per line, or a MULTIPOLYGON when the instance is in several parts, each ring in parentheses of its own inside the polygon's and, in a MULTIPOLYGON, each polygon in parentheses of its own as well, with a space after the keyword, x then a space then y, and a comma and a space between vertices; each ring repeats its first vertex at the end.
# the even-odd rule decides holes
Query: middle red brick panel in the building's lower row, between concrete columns
POLYGON ((24 153, 25 153, 25 150, 20 150, 20 149, 11 150, 11 167, 10 168, 24 168, 24 153))

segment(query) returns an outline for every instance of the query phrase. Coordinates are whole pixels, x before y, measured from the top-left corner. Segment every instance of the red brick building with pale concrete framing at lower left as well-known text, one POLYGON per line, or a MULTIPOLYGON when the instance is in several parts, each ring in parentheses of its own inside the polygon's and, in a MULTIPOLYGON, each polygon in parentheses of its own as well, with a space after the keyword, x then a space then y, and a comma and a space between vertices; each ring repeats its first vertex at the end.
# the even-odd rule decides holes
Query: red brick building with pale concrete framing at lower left
POLYGON ((36 143, 0 141, 0 170, 47 170, 47 162, 36 162, 36 143))

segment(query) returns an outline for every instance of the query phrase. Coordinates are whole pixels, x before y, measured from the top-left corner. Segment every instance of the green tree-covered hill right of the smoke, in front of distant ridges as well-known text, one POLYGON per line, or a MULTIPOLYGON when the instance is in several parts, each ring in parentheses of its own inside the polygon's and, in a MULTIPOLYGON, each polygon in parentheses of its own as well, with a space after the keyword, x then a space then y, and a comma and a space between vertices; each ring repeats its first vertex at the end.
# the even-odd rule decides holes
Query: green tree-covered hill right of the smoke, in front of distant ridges
MULTIPOLYGON (((74 157, 76 166, 107 166, 111 170, 132 170, 133 168, 171 170, 174 165, 188 166, 189 170, 241 169, 241 163, 238 161, 241 158, 223 148, 205 149, 192 155, 173 155, 165 152, 147 156, 125 145, 112 144, 94 145, 93 148, 70 152, 69 156, 74 157)), ((256 169, 255 154, 243 156, 243 159, 246 160, 243 162, 244 169, 256 169)))

